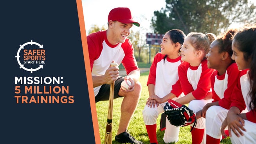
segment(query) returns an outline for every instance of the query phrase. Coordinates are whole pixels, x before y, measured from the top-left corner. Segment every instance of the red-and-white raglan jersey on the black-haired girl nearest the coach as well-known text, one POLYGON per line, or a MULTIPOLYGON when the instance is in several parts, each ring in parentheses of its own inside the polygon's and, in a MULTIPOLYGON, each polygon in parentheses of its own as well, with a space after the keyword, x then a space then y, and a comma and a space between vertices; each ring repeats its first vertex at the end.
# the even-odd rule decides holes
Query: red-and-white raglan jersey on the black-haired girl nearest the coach
POLYGON ((162 98, 172 92, 177 97, 182 93, 178 80, 178 66, 181 63, 180 56, 176 59, 166 57, 160 52, 155 55, 150 67, 147 85, 155 85, 155 95, 162 98))

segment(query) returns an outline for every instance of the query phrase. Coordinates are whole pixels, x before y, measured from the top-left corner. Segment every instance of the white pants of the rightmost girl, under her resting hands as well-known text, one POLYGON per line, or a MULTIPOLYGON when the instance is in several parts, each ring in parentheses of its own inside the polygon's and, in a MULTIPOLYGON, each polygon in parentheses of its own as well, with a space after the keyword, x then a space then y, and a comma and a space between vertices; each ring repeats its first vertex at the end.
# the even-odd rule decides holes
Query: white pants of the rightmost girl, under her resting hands
POLYGON ((251 121, 245 121, 245 128, 246 131, 243 131, 243 136, 240 135, 240 137, 237 137, 234 132, 231 130, 231 143, 232 144, 256 144, 256 123, 251 121))

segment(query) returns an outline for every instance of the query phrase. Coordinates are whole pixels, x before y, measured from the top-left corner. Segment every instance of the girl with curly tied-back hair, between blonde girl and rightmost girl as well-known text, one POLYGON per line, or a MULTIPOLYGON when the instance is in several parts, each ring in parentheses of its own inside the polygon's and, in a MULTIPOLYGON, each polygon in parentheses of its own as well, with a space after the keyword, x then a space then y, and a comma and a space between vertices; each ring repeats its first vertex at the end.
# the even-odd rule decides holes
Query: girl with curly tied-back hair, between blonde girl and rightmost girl
MULTIPOLYGON (((231 104, 231 94, 237 84, 240 71, 234 60, 231 44, 237 29, 230 29, 218 36, 210 45, 207 58, 208 68, 216 69, 211 75, 213 102, 207 103, 197 112, 197 118, 206 118, 206 143, 220 144, 222 122, 227 116, 231 104)), ((227 131, 226 131, 227 132, 227 131)))

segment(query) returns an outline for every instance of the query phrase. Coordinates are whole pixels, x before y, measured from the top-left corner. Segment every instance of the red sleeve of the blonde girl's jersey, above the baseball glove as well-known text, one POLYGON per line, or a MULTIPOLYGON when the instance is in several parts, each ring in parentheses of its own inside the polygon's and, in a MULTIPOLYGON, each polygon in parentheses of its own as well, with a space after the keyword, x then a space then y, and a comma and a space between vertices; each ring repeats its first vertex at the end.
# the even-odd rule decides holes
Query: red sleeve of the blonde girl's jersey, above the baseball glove
POLYGON ((207 67, 207 60, 202 61, 202 74, 197 84, 197 89, 192 92, 196 99, 204 99, 211 89, 211 75, 215 69, 207 67))

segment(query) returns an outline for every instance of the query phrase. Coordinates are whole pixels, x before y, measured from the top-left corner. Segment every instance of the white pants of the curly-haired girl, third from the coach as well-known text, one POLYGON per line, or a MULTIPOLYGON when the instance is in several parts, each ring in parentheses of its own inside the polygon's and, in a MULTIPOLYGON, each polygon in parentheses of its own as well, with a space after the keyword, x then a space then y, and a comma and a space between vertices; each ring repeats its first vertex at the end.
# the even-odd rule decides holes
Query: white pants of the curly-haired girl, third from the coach
POLYGON ((222 134, 220 128, 223 121, 227 117, 228 110, 221 106, 211 106, 206 111, 206 134, 221 139, 222 134))

